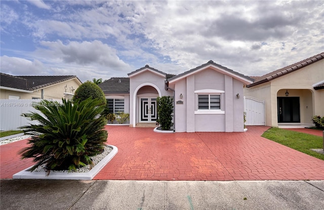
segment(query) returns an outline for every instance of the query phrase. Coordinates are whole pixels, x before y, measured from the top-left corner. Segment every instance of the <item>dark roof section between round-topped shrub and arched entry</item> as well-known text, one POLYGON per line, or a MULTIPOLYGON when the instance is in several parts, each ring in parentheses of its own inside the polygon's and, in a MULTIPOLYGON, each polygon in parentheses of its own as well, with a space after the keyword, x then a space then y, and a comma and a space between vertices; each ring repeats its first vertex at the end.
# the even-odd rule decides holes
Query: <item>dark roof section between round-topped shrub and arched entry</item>
POLYGON ((113 77, 99 84, 105 94, 129 94, 130 78, 113 77), (120 82, 119 82, 120 81, 120 82))

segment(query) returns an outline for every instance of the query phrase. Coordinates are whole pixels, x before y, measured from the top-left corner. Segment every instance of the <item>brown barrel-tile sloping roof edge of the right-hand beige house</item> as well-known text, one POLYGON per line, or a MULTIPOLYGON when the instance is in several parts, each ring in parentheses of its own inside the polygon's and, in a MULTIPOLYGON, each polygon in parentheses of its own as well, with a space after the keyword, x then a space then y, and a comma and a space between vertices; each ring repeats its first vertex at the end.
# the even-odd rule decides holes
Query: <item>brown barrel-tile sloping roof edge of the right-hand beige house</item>
POLYGON ((321 60, 323 58, 324 58, 324 52, 319 53, 317 55, 314 55, 314 56, 312 56, 310 58, 306 58, 306 59, 304 59, 302 61, 299 61, 297 63, 288 65, 286 67, 277 69, 276 71, 270 72, 270 73, 268 73, 266 75, 263 75, 261 77, 252 77, 252 78, 255 78, 255 81, 251 85, 247 85, 247 87, 253 87, 253 86, 256 86, 256 85, 260 85, 260 84, 269 82, 269 81, 271 81, 273 79, 276 79, 278 77, 281 77, 281 76, 287 75, 289 73, 295 72, 298 69, 301 69, 301 68, 303 68, 303 67, 305 67, 307 65, 310 65, 312 63, 315 63, 315 62, 317 62, 317 61, 319 61, 319 60, 321 60))

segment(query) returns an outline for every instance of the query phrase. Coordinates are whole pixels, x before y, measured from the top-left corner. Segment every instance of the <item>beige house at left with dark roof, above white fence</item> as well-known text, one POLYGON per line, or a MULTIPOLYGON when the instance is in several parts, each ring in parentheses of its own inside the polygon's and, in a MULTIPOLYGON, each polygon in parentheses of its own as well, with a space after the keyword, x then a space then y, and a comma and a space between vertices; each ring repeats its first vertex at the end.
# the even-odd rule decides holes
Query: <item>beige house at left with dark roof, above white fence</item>
POLYGON ((12 76, 1 73, 1 99, 70 98, 82 82, 76 76, 12 76), (65 93, 65 94, 64 94, 65 93))

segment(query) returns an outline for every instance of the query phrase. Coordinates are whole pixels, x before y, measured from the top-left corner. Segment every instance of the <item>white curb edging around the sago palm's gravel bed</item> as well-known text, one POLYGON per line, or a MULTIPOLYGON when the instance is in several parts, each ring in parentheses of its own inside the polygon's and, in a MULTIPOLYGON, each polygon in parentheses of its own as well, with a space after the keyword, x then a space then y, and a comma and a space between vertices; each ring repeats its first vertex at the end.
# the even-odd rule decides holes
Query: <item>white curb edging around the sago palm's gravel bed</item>
POLYGON ((117 154, 118 148, 112 145, 112 151, 104 157, 97 165, 95 165, 89 172, 47 172, 28 171, 32 166, 15 173, 13 179, 42 179, 42 180, 92 180, 97 173, 117 154))

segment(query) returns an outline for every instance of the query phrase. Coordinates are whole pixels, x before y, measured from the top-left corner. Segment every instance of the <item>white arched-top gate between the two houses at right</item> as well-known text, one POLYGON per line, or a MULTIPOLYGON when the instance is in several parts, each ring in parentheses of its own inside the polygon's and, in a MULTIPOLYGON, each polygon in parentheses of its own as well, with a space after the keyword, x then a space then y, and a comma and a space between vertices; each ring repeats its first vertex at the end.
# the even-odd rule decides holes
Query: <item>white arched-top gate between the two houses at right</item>
POLYGON ((244 111, 246 125, 265 125, 265 101, 254 97, 244 96, 244 111))

